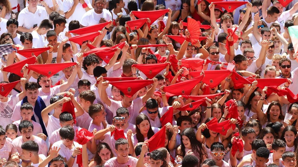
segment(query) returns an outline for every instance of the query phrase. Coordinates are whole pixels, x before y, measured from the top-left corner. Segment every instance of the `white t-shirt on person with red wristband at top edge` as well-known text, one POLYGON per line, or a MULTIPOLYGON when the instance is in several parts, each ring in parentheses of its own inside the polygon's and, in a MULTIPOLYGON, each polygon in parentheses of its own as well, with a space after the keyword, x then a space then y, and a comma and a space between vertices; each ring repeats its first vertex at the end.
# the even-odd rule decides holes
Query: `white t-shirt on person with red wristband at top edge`
MULTIPOLYGON (((88 7, 92 9, 92 6, 90 4, 90 1, 85 1, 85 2, 88 5, 88 7)), ((67 11, 69 11, 72 8, 73 5, 74 5, 74 1, 73 0, 63 0, 63 11, 64 11, 64 13, 66 13, 67 11)), ((81 21, 83 15, 85 13, 86 13, 85 8, 83 8, 82 4, 79 3, 75 7, 75 11, 73 12, 73 14, 67 19, 67 22, 69 23, 72 20, 81 21)))

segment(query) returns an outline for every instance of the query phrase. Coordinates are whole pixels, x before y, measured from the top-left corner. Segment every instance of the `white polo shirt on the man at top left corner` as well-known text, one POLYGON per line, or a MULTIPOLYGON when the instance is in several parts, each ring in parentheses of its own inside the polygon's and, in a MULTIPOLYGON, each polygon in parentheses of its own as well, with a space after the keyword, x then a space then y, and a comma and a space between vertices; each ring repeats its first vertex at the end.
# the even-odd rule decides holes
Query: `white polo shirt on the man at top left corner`
POLYGON ((39 26, 41 21, 47 18, 48 14, 44 7, 37 6, 35 13, 29 12, 28 7, 25 7, 18 15, 18 22, 19 26, 30 29, 33 28, 34 24, 37 24, 37 26, 39 26))

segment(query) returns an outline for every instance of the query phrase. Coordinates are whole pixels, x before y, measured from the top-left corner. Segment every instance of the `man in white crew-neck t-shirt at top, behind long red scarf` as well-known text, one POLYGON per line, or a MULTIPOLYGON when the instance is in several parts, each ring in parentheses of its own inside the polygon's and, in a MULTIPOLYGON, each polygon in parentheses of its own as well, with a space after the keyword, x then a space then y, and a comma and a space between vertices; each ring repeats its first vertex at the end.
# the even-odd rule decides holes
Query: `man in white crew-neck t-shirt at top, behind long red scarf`
MULTIPOLYGON (((89 10, 83 15, 80 20, 80 27, 92 26, 112 20, 111 12, 104 8, 105 3, 105 0, 95 0, 94 9, 89 10)), ((112 30, 112 28, 113 26, 111 26, 109 30, 112 30)))

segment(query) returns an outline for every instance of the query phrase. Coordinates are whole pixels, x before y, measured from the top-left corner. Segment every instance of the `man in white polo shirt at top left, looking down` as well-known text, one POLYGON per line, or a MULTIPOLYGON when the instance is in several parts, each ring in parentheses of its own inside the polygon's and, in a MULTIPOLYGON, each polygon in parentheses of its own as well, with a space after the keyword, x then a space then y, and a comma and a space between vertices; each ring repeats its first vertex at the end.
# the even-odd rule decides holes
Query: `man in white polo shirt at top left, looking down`
POLYGON ((48 13, 44 7, 37 5, 37 0, 28 0, 28 7, 25 7, 18 15, 18 31, 32 32, 43 21, 48 18, 48 13), (37 24, 36 27, 34 25, 37 24))

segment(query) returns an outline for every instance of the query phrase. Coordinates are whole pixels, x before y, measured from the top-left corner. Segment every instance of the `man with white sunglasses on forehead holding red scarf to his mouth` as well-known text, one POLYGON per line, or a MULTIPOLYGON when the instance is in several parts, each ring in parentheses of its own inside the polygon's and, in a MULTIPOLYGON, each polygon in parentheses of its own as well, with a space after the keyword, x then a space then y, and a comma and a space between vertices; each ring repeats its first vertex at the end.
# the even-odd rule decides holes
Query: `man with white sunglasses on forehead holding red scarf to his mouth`
MULTIPOLYGON (((115 151, 117 150, 117 146, 115 148, 115 143, 116 143, 115 135, 111 135, 111 133, 114 132, 115 130, 124 129, 124 127, 125 127, 125 117, 116 115, 113 118, 112 125, 107 125, 107 128, 96 132, 94 134, 94 139, 102 140, 102 142, 107 143, 111 147, 113 154, 117 156, 118 151, 117 152, 115 151)), ((125 141, 128 141, 128 143, 131 144, 129 145, 129 147, 134 149, 134 146, 132 145, 134 143, 134 138, 132 137, 132 130, 129 129, 127 132, 124 132, 124 136, 125 138, 127 138, 125 139, 125 141)))

